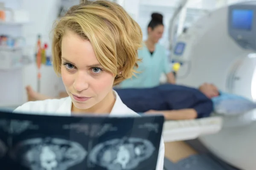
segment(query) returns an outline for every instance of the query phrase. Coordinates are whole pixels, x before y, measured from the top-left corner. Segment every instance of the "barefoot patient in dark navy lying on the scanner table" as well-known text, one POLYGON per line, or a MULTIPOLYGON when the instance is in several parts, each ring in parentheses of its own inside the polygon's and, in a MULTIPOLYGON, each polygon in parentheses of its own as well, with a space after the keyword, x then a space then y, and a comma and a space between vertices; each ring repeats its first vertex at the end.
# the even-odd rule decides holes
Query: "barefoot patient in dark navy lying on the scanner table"
MULTIPOLYGON (((160 85, 154 88, 115 89, 122 102, 137 113, 159 113, 167 120, 195 119, 207 117, 213 110, 211 98, 218 96, 218 89, 203 84, 198 89, 181 85, 160 85)), ((26 87, 29 101, 53 99, 26 87)), ((67 97, 61 92, 59 98, 67 97)))

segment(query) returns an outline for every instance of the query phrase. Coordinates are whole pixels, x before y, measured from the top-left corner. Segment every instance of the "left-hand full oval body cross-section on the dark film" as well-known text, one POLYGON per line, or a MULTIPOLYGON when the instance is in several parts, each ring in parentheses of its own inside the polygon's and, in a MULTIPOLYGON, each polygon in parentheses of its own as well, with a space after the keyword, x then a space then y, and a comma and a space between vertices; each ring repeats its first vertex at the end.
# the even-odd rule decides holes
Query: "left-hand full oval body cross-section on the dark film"
POLYGON ((81 163, 87 156, 87 151, 77 142, 35 138, 19 142, 10 155, 29 170, 67 170, 81 163))

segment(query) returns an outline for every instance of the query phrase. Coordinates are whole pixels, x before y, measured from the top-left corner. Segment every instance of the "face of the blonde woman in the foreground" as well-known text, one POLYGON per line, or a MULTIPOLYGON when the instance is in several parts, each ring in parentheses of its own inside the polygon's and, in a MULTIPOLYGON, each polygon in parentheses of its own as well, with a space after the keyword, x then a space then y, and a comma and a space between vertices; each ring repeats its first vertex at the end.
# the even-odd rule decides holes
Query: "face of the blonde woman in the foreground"
POLYGON ((90 111, 108 101, 115 77, 102 68, 90 42, 66 31, 61 54, 61 77, 73 107, 90 111))

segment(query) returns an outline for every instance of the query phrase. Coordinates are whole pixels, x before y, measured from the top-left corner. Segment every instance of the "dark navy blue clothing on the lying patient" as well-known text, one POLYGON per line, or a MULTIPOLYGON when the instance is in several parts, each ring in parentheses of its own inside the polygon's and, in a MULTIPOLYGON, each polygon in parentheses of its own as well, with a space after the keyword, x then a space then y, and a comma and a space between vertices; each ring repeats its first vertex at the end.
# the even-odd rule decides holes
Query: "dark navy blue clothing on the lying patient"
POLYGON ((213 111, 211 99, 198 89, 182 85, 160 85, 154 88, 115 89, 122 102, 137 113, 148 110, 179 110, 193 108, 198 118, 207 117, 213 111))

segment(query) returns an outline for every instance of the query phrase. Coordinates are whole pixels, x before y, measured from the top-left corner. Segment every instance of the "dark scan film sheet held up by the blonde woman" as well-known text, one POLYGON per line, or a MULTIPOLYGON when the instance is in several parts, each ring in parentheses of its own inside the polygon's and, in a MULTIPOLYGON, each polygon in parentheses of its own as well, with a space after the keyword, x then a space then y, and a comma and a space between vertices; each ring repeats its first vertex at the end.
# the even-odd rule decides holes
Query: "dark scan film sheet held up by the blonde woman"
POLYGON ((1 170, 155 170, 163 122, 0 112, 1 170))

